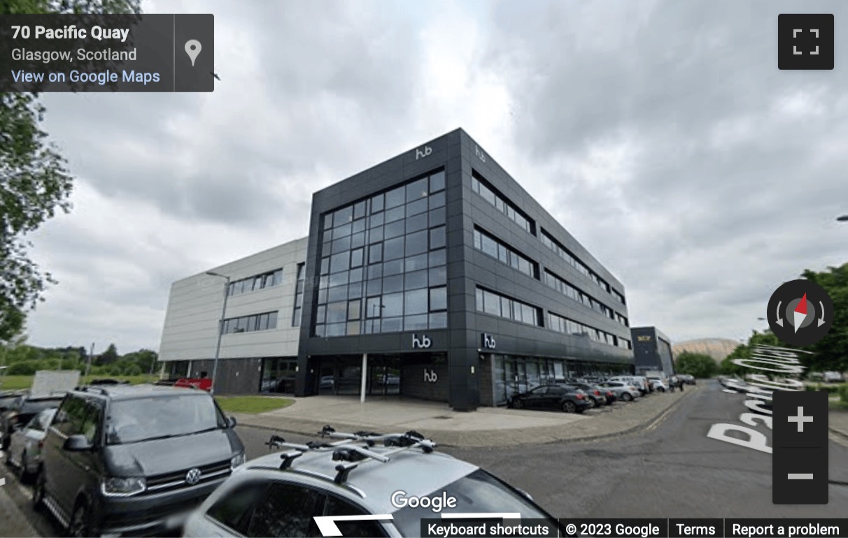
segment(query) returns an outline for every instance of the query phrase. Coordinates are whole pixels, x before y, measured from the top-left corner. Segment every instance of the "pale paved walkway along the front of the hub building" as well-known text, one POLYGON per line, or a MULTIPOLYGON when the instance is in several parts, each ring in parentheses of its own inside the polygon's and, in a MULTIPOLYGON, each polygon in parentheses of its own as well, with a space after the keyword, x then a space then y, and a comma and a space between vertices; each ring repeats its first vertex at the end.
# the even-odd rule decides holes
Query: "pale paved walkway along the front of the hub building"
POLYGON ((513 446, 550 441, 583 441, 621 435, 661 417, 686 391, 654 393, 635 402, 616 402, 583 414, 478 408, 459 413, 446 403, 407 399, 316 396, 295 398, 287 408, 268 413, 236 414, 238 424, 314 435, 325 424, 340 431, 371 430, 380 433, 416 430, 445 446, 513 446))

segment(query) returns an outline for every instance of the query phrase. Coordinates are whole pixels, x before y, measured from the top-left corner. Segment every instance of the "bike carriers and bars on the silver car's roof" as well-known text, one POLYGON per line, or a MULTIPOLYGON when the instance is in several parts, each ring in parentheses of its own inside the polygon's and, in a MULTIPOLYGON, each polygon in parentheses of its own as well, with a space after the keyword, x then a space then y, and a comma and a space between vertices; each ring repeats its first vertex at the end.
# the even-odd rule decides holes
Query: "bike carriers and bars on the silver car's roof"
POLYGON ((324 426, 320 432, 321 437, 333 437, 340 441, 327 443, 323 441, 310 441, 305 445, 286 442, 280 435, 271 435, 271 439, 265 443, 270 448, 286 447, 292 448, 292 451, 283 452, 280 455, 282 463, 280 469, 290 469, 292 462, 302 456, 305 452, 331 452, 332 461, 343 462, 336 466, 336 478, 333 480, 336 484, 347 482, 350 471, 359 467, 362 461, 377 461, 380 463, 388 463, 392 461, 389 458, 391 455, 398 452, 404 452, 410 448, 421 448, 427 454, 432 452, 436 443, 430 439, 425 439, 417 431, 410 430, 404 434, 378 434, 373 431, 357 431, 354 433, 342 433, 336 431, 332 426, 324 426), (369 450, 376 445, 378 441, 382 441, 383 446, 394 446, 394 450, 388 452, 374 452, 369 450), (356 446, 355 442, 365 442, 365 446, 356 446))

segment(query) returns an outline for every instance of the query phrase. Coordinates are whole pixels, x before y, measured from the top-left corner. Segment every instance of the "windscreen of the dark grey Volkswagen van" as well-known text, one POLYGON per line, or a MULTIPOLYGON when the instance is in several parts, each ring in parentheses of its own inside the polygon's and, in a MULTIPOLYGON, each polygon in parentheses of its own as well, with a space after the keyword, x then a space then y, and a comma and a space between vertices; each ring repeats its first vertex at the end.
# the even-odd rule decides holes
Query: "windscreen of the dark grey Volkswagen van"
POLYGON ((192 435, 226 427, 215 401, 194 393, 113 401, 106 423, 109 445, 192 435))

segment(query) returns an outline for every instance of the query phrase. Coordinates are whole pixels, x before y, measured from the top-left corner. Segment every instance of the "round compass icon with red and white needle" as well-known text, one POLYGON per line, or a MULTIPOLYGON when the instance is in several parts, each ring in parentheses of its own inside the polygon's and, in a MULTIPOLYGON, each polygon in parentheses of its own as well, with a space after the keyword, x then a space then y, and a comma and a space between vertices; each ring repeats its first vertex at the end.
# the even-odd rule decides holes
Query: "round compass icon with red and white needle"
POLYGON ((833 324, 834 302, 810 280, 791 280, 768 300, 766 319, 772 332, 790 346, 812 346, 833 324))

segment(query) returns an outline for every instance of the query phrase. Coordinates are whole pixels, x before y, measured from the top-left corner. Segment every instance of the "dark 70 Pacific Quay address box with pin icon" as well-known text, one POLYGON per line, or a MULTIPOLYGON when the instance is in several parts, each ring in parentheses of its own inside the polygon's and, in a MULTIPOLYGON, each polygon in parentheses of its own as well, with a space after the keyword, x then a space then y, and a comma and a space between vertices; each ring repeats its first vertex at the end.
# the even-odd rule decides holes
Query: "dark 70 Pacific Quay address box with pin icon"
POLYGON ((0 92, 212 92, 211 14, 0 15, 0 92))

